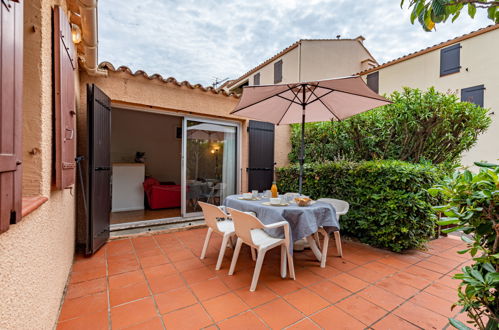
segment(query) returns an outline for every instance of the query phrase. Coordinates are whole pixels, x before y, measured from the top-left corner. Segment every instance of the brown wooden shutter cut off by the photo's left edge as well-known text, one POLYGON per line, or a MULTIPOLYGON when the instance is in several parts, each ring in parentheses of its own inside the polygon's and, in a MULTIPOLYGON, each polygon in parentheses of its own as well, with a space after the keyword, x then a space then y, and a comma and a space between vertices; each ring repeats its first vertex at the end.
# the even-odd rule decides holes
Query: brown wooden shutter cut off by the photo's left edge
POLYGON ((0 233, 21 219, 23 7, 3 0, 0 71, 0 233))

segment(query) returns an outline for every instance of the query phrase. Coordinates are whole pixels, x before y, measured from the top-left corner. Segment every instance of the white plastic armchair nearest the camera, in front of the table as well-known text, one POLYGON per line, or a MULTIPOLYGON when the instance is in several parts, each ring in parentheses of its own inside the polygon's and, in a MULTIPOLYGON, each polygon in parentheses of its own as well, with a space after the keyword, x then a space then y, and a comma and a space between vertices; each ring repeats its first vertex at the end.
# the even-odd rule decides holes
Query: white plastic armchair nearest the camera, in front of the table
POLYGON ((239 257, 239 252, 241 251, 241 245, 247 244, 251 248, 256 248, 258 250, 258 256, 255 265, 255 271, 253 273, 253 279, 251 281, 250 291, 255 291, 256 285, 258 284, 258 278, 260 277, 260 271, 262 269, 263 259, 265 258, 265 253, 277 246, 281 246, 281 277, 286 277, 286 259, 289 265, 289 274, 291 278, 295 279, 295 268, 293 264, 293 257, 290 253, 290 232, 289 223, 287 221, 276 222, 271 225, 264 225, 257 217, 228 208, 228 212, 232 217, 234 222, 234 229, 237 235, 236 248, 234 250, 234 256, 232 257, 232 262, 230 264, 229 275, 234 274, 236 268, 237 258, 239 257), (284 230, 284 238, 275 238, 267 234, 263 229, 279 228, 282 227, 284 230))

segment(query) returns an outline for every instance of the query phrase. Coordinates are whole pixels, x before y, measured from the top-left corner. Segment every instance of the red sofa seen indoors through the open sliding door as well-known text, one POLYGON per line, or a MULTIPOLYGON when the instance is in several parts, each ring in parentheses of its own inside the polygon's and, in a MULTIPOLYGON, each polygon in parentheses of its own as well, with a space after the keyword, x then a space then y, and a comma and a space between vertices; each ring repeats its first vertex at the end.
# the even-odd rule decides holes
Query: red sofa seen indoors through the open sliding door
POLYGON ((147 178, 142 185, 151 209, 180 207, 180 185, 162 185, 154 178, 147 178))

